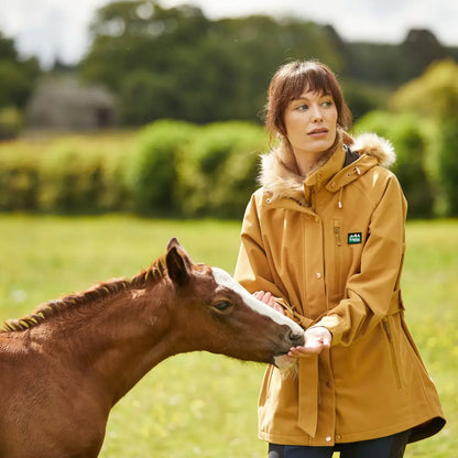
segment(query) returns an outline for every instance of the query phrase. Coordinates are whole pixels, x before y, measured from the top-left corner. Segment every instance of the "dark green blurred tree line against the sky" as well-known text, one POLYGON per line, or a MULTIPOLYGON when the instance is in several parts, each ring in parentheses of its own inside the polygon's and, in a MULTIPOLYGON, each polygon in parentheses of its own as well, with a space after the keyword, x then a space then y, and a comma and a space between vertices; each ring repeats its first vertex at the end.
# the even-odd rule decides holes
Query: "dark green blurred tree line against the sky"
MULTIPOLYGON (((345 41, 328 24, 251 15, 210 20, 196 7, 164 8, 157 0, 122 0, 97 10, 91 45, 75 68, 117 97, 120 122, 162 118, 195 123, 238 119, 260 122, 276 67, 316 58, 339 75, 356 119, 384 108, 389 95, 438 59, 458 59, 427 30, 412 30, 397 45, 345 41)), ((43 74, 36 58, 19 58, 0 35, 0 110, 23 110, 43 74)), ((1 112, 1 111, 0 111, 1 112)), ((4 117, 4 115, 3 115, 4 117)), ((1 115, 0 115, 1 118, 1 115)), ((1 119, 0 119, 1 123, 1 119)))

